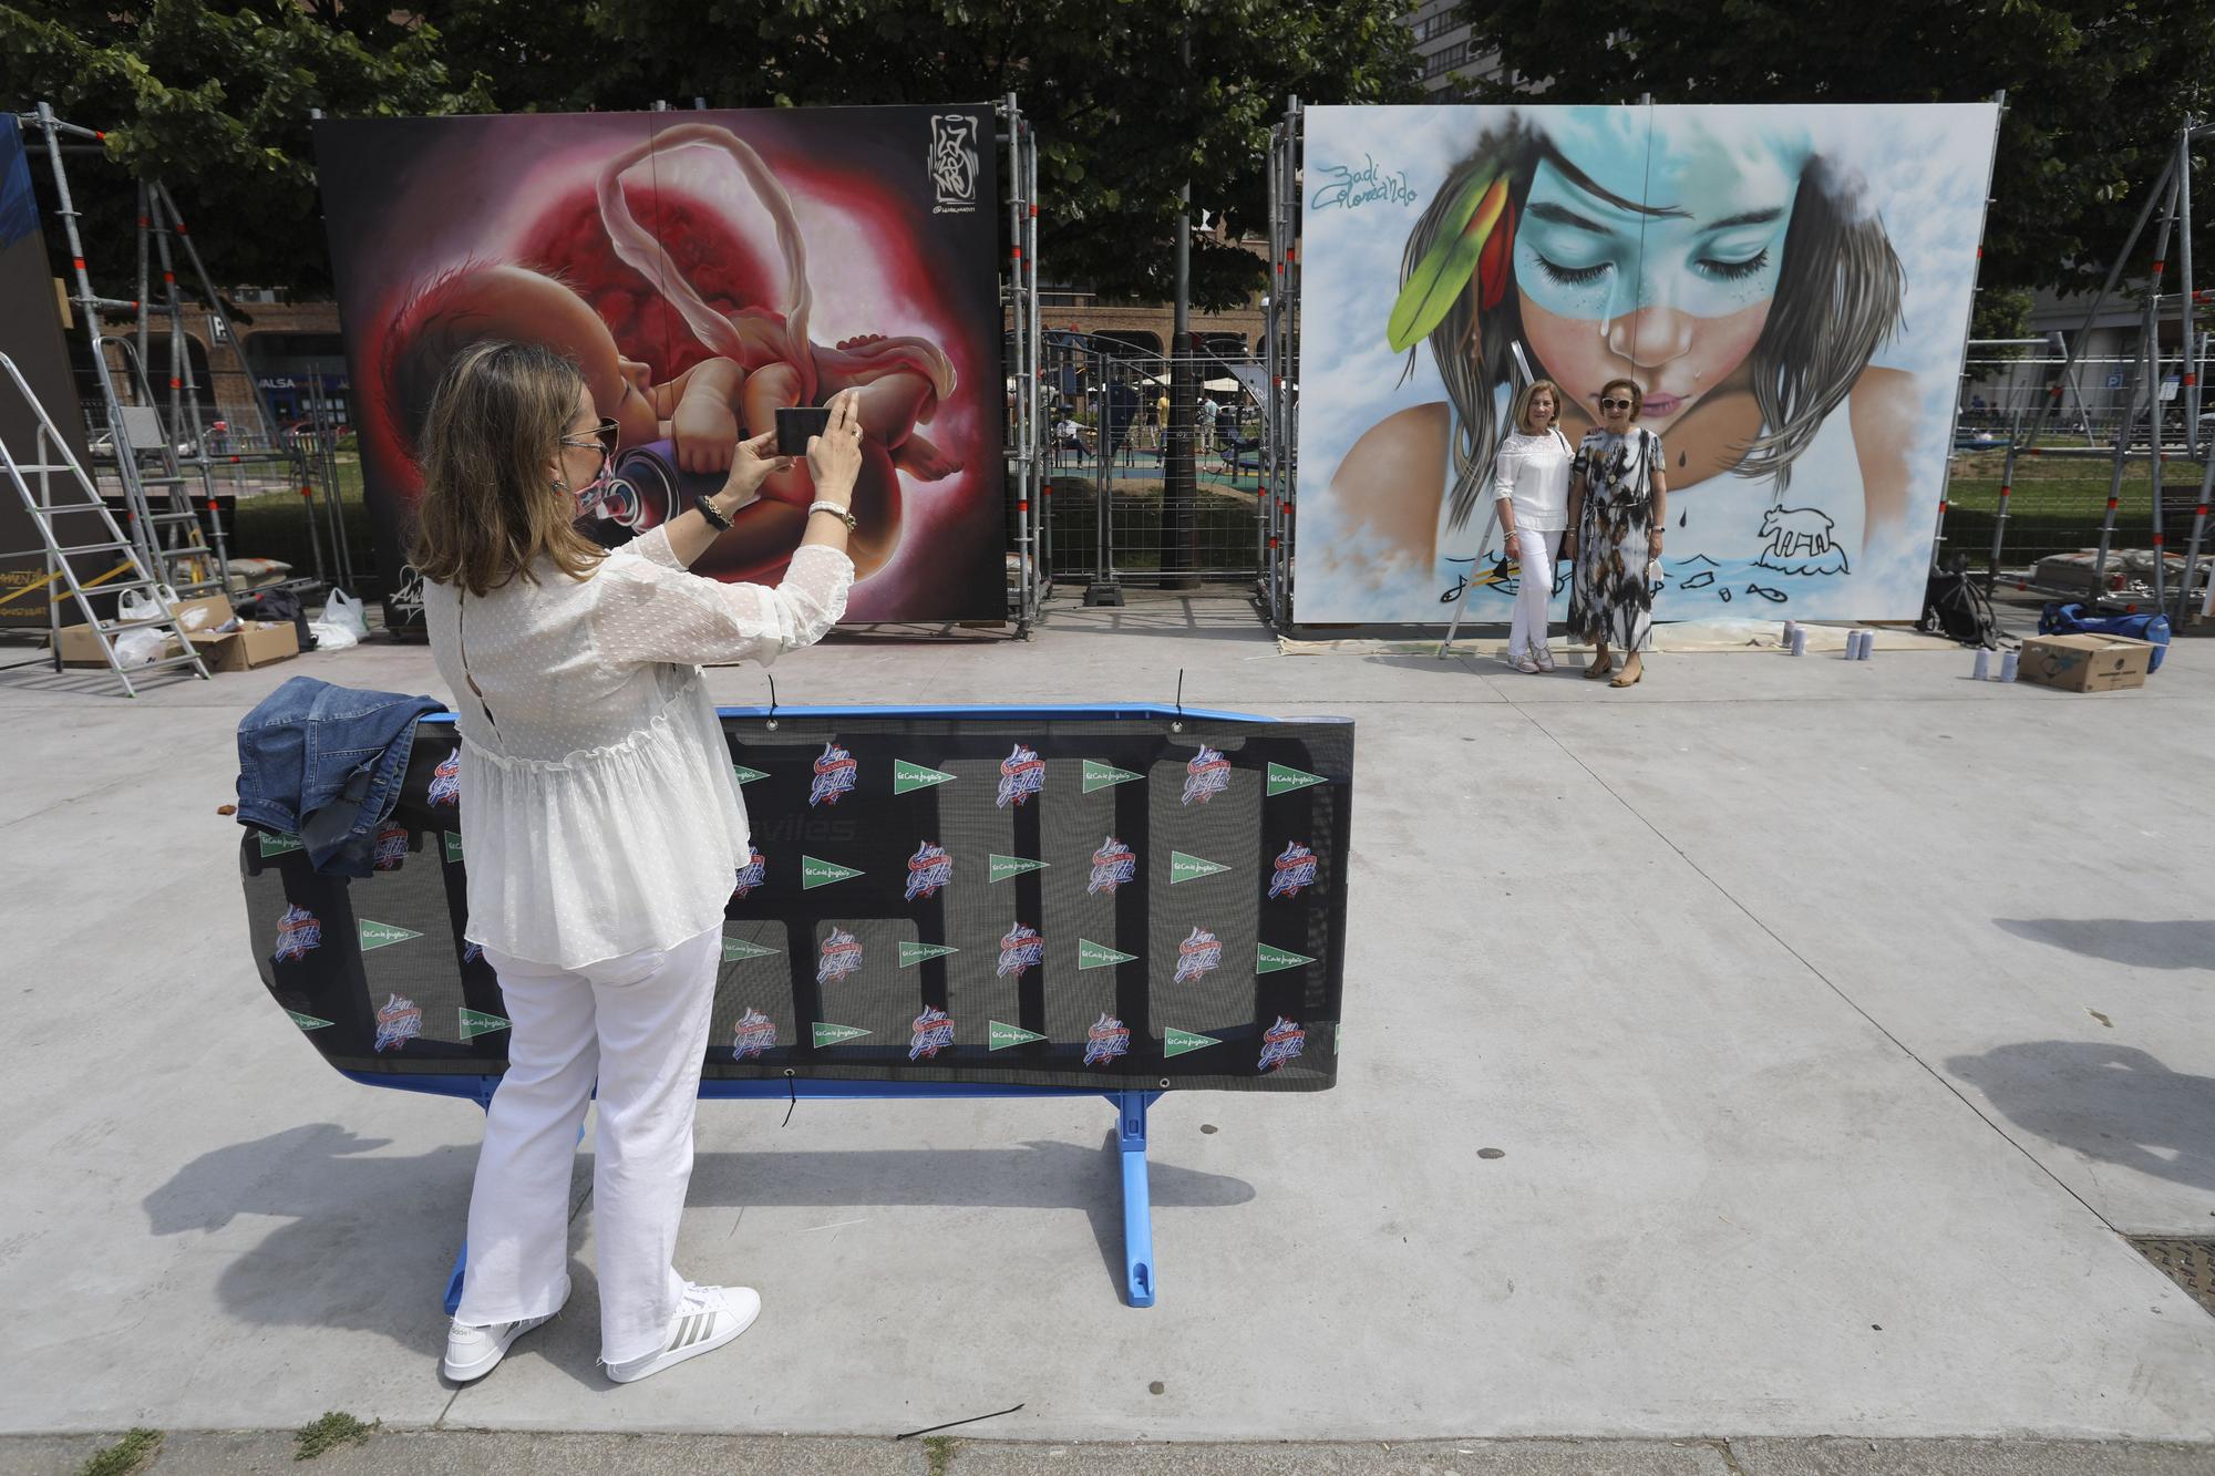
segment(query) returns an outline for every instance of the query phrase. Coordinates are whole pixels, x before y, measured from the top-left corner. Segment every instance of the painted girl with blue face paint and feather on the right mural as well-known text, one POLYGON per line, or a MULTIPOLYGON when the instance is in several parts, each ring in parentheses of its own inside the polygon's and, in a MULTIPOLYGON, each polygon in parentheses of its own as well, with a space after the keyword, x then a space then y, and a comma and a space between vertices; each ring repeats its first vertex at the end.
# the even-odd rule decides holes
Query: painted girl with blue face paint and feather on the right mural
POLYGON ((1841 574, 1909 519, 1920 392, 1872 363, 1905 290, 1861 173, 1774 115, 1491 111, 1413 222, 1380 326, 1409 368, 1429 348, 1446 399, 1362 432, 1331 492, 1373 550, 1429 570, 1477 541, 1517 381, 1566 390, 1575 441, 1628 377, 1668 445, 1672 550, 1774 550, 1790 488, 1825 503, 1838 552, 1788 572, 1841 574))

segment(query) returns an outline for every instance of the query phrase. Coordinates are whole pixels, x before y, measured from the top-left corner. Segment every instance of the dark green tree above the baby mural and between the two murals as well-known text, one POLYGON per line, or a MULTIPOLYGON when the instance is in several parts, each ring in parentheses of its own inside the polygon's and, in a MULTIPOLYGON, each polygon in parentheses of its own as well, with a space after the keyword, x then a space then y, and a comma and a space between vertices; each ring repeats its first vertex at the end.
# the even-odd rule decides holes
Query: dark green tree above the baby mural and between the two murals
MULTIPOLYGON (((1017 93, 1039 135, 1054 279, 1170 295, 1178 186, 1265 230, 1269 124, 1289 95, 1420 95, 1404 0, 425 0, 503 111, 970 102, 1017 93), (1192 66, 1178 35, 1192 33, 1192 66), (571 64, 563 66, 560 58, 571 64)), ((1192 299, 1243 304, 1267 264, 1194 242, 1192 299)))

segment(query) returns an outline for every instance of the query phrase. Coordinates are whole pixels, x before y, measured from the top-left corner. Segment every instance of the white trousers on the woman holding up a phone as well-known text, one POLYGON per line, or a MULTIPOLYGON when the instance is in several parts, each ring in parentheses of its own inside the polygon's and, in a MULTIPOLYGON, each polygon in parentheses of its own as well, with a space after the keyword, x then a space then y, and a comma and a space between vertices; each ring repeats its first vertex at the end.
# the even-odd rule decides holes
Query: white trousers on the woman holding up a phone
POLYGON ((693 1113, 722 929, 578 971, 485 949, 512 1026, 470 1195, 470 1270, 456 1321, 545 1316, 569 1294, 569 1175, 594 1082, 600 1135, 600 1356, 669 1339, 684 1279, 671 1265, 691 1183, 693 1113))

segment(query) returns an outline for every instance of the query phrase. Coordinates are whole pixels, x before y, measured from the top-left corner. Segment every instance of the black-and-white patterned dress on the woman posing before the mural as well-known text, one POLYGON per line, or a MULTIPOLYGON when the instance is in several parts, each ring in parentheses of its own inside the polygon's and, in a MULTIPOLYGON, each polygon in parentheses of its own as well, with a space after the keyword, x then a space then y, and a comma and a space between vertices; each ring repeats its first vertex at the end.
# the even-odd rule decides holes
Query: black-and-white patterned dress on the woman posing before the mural
POLYGON ((1586 432, 1573 476, 1584 479, 1577 519, 1577 574, 1568 585, 1568 627, 1588 643, 1624 652, 1646 649, 1652 634, 1655 592, 1646 578, 1652 558, 1652 468, 1661 437, 1632 426, 1586 432))

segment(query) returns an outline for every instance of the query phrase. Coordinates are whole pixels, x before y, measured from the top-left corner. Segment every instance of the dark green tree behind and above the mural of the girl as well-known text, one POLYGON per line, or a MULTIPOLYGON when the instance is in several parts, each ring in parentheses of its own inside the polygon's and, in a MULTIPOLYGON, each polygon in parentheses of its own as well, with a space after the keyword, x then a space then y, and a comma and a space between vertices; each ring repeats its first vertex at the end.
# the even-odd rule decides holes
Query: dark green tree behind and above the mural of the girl
MULTIPOLYGON (((2093 288, 2175 146, 2215 113, 2215 0, 1464 0, 1546 102, 1971 102, 2007 91, 1987 286, 2093 288)), ((1513 93, 1484 89, 1488 100, 1513 93)), ((2215 206, 2195 193, 2195 219, 2215 206)), ((2135 264, 2144 270, 2151 257, 2135 264)))

